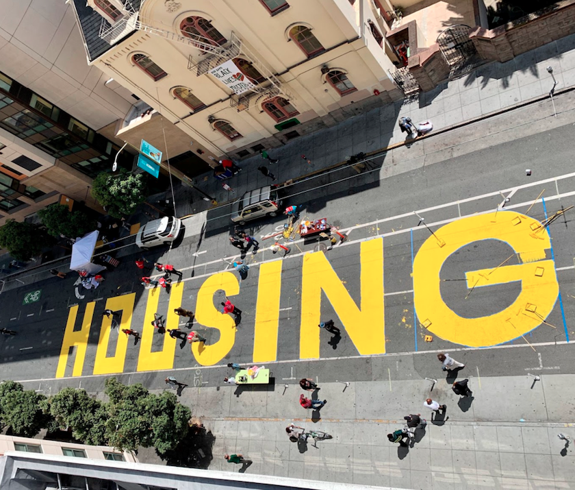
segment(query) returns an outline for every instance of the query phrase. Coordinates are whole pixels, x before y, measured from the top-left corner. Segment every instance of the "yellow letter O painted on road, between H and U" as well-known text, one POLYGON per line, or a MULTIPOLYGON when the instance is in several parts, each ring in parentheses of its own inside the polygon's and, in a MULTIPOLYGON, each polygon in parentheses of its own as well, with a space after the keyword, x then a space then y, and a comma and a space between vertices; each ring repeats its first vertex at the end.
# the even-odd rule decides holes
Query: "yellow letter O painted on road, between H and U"
POLYGON ((102 327, 100 330, 100 339, 98 341, 98 350, 96 351, 96 360, 94 360, 94 374, 112 374, 122 373, 126 360, 126 350, 128 347, 128 337, 122 332, 123 328, 130 328, 131 317, 133 313, 133 303, 136 299, 136 293, 108 298, 106 309, 112 311, 121 311, 122 320, 118 327, 112 330, 112 317, 102 318, 102 327), (110 336, 116 342, 114 356, 107 357, 108 344, 110 336))

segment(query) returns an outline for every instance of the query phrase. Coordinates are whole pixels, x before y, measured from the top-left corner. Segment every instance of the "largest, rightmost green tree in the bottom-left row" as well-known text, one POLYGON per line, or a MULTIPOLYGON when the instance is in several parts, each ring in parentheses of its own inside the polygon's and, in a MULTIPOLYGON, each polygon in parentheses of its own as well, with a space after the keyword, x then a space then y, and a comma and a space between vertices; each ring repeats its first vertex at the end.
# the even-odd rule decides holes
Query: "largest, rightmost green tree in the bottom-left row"
POLYGON ((188 434, 190 408, 178 403, 173 393, 149 393, 142 384, 127 387, 115 378, 106 380, 107 439, 114 448, 156 448, 159 454, 176 448, 188 434))

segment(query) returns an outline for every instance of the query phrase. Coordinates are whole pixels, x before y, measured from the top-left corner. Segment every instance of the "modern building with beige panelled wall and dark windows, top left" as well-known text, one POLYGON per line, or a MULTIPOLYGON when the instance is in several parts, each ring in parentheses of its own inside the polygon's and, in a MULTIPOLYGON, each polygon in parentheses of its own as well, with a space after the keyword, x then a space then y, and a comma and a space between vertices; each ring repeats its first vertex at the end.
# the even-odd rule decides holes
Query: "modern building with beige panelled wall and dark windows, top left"
MULTIPOLYGON (((61 0, 10 2, 0 19, 0 225, 62 199, 86 201, 119 149, 99 131, 137 99, 88 66, 74 10, 61 0)), ((121 145, 121 141, 119 141, 121 145)), ((127 159, 128 160, 128 159, 127 159)), ((131 158, 129 159, 131 161, 131 158)))

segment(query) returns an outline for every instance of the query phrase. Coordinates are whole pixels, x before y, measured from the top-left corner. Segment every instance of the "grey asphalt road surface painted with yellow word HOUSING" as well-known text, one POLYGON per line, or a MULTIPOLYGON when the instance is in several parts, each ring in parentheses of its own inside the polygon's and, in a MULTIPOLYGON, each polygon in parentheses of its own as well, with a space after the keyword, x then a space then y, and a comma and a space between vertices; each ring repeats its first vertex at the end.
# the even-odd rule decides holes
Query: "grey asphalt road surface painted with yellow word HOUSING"
POLYGON ((183 271, 170 294, 140 286, 135 246, 83 299, 72 274, 6 291, 0 327, 18 335, 0 339, 2 378, 98 391, 106 375, 145 383, 181 369, 201 372, 209 386, 220 384, 222 366, 238 362, 271 363, 283 380, 292 379, 294 363, 309 363, 325 381, 391 380, 386 364, 395 379, 408 379, 427 376, 444 351, 481 365, 478 376, 572 373, 571 134, 568 125, 384 180, 372 171, 294 186, 283 205, 327 218, 347 241, 327 249, 327 241, 297 237, 282 258, 269 249, 274 238, 263 238, 283 230, 284 217, 249 223, 261 248, 244 259, 246 280, 231 267, 238 250, 222 208, 207 213, 205 233, 188 227, 171 249, 144 253, 183 271), (238 328, 218 311, 223 289, 243 312, 238 328), (23 304, 37 290, 38 301, 23 304), (193 327, 169 313, 177 306, 196 312, 193 327), (119 328, 102 317, 105 308, 123 310, 119 328), (198 330, 206 344, 190 350, 159 334, 150 325, 155 312, 168 328, 198 330), (318 328, 327 319, 341 336, 318 328), (134 345, 122 328, 142 340, 134 345), (374 356, 385 363, 371 363, 374 356))

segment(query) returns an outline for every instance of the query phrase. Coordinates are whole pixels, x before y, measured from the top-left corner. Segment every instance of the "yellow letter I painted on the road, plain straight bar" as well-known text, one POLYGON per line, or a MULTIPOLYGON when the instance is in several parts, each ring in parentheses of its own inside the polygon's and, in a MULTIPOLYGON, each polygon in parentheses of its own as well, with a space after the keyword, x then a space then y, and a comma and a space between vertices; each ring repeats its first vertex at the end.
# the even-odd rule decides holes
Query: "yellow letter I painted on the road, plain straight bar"
POLYGON ((279 295, 281 293, 281 260, 262 264, 259 268, 253 362, 277 360, 279 328, 279 295))

